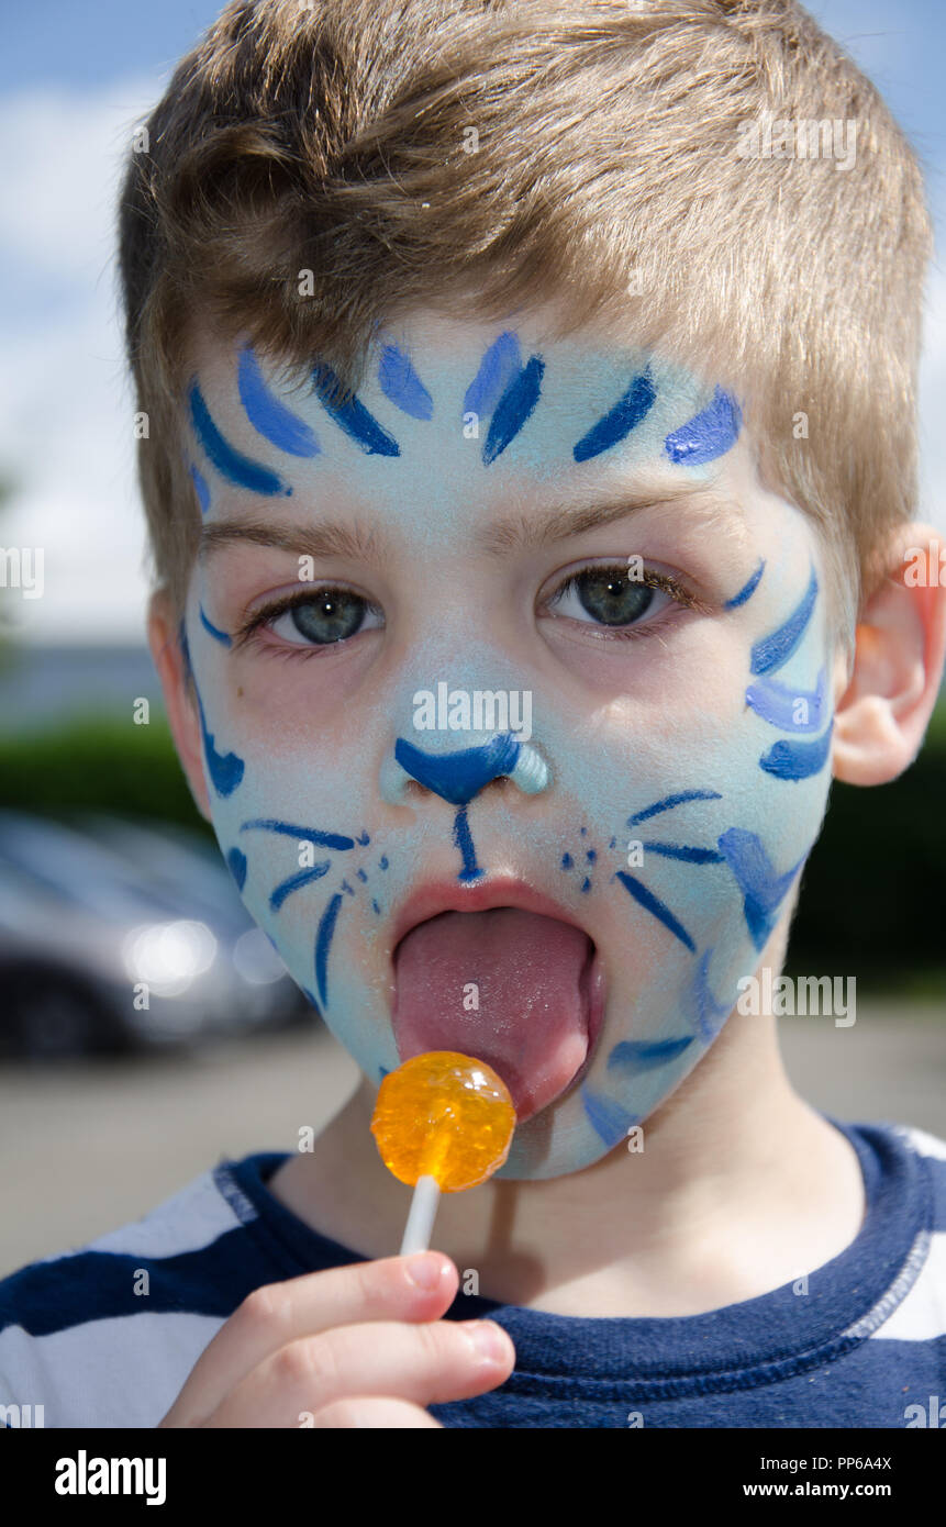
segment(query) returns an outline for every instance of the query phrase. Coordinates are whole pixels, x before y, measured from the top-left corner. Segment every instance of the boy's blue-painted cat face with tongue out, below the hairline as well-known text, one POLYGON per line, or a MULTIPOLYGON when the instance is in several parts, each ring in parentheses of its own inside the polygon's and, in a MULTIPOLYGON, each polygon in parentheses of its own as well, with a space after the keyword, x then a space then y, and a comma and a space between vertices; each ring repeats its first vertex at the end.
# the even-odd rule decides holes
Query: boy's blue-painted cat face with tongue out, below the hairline
POLYGON ((373 1083, 491 1063, 504 1177, 594 1162, 695 1066, 824 814, 808 521, 712 380, 620 336, 416 318, 339 408, 203 345, 186 600, 243 899, 373 1083))

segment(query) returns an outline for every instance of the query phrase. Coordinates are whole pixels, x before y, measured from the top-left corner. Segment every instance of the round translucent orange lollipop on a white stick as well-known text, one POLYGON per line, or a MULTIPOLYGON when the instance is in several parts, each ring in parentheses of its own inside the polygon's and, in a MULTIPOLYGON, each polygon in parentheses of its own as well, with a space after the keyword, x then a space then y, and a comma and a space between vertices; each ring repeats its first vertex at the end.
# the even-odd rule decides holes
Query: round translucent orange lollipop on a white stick
POLYGON ((513 1128, 509 1089, 472 1055, 429 1051, 384 1078, 371 1133, 388 1171, 414 1188, 402 1257, 426 1251, 440 1193, 475 1188, 503 1165, 513 1128))

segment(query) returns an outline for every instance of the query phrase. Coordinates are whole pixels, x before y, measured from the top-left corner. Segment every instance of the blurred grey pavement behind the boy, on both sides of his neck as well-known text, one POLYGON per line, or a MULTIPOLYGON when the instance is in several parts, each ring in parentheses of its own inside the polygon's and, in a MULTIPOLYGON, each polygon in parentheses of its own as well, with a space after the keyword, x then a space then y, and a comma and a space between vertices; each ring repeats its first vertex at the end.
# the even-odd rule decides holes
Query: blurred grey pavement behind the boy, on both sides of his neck
MULTIPOLYGON (((946 1138, 943 1006, 857 1003, 857 1022, 782 1019, 786 1066, 839 1119, 946 1138)), ((222 1156, 293 1150, 355 1090, 324 1029, 234 1040, 191 1057, 0 1069, 0 1277, 139 1219, 222 1156)))

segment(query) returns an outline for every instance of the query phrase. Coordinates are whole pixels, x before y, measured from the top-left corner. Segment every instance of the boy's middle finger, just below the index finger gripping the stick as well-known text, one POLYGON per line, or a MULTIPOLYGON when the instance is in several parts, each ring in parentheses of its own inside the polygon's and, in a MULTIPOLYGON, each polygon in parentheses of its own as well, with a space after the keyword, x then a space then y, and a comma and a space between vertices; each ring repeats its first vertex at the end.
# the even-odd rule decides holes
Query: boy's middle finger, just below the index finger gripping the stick
POLYGON ((231 1390, 208 1426, 298 1426, 336 1400, 384 1394, 413 1405, 466 1400, 503 1383, 515 1348, 494 1321, 381 1321, 290 1342, 231 1390))

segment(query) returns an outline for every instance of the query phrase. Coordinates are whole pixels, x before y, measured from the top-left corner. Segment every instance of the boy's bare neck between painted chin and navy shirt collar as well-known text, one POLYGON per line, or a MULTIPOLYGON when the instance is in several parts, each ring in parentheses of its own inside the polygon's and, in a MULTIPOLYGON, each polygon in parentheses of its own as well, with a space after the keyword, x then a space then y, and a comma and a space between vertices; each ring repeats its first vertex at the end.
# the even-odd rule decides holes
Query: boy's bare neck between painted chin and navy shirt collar
MULTIPOLYGON (((361 1086, 272 1191, 364 1257, 394 1255, 411 1190, 387 1171, 361 1086)), ((775 1019, 734 1012, 643 1125, 584 1171, 443 1194, 433 1245, 462 1287, 573 1315, 695 1315, 801 1278, 857 1234, 856 1153, 792 1089, 775 1019), (472 1281, 465 1274, 475 1272, 472 1281)))

